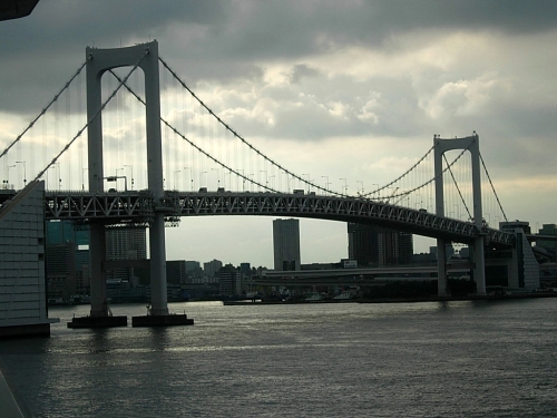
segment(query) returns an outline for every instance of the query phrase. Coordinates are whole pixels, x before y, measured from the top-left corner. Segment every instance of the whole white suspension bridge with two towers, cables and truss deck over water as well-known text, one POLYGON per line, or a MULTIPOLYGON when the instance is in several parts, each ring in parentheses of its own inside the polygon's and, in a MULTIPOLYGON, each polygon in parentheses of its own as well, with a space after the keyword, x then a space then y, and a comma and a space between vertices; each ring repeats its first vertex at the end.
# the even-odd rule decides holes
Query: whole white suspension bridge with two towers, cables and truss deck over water
POLYGON ((476 132, 434 135, 411 167, 371 191, 363 182, 351 191, 346 178, 332 187, 326 174, 320 184, 234 130, 158 55, 156 41, 87 48, 85 62, 6 144, 0 171, 4 189, 45 185, 46 220, 90 230, 91 317, 98 318, 109 314, 107 227, 149 229, 153 317, 168 315, 164 229, 182 216, 313 217, 433 237, 440 294, 447 291, 446 243, 473 249, 478 293, 486 292, 485 247, 516 246, 515 233, 485 220, 486 207, 490 220, 507 217, 476 132))

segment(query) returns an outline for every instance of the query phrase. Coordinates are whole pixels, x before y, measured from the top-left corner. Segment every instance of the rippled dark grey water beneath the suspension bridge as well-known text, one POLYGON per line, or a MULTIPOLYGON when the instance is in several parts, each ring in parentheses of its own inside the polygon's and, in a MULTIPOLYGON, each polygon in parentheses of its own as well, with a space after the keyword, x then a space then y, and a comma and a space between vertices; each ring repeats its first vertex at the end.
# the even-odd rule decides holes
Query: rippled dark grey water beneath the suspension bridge
MULTIPOLYGON (((557 300, 170 304, 194 327, 0 342, 36 417, 555 417, 557 300)), ((145 305, 115 305, 144 314, 145 305)))

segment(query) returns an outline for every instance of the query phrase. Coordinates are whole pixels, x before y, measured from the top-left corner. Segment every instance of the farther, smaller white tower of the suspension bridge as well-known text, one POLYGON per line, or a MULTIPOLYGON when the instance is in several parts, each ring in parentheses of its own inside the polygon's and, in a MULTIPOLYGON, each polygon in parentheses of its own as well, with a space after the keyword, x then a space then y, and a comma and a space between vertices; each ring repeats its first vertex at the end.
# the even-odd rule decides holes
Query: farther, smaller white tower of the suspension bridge
MULTIPOLYGON (((434 172, 436 172, 436 213, 444 216, 444 193, 443 193, 443 154, 451 149, 468 149, 472 164, 472 197, 473 197, 473 223, 478 231, 483 226, 483 213, 481 208, 481 172, 480 172, 480 145, 479 136, 475 133, 465 138, 441 139, 433 137, 434 145, 434 172)), ((447 252, 446 240, 437 239, 438 256, 438 293, 447 294, 447 252)), ((480 234, 472 244, 473 279, 476 281, 476 292, 486 294, 486 268, 483 256, 485 237, 480 234)))

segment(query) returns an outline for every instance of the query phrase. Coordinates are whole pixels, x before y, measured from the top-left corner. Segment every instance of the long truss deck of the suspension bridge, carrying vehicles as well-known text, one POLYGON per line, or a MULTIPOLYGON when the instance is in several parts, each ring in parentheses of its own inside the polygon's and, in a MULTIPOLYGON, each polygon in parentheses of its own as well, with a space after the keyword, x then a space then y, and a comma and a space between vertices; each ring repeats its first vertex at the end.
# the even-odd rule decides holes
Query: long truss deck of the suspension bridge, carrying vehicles
POLYGON ((339 197, 315 194, 270 192, 178 192, 166 191, 159 200, 149 191, 89 193, 82 191, 47 191, 47 220, 102 222, 107 225, 148 225, 155 213, 162 212, 167 222, 180 216, 264 215, 312 217, 328 221, 369 223, 407 231, 433 239, 465 244, 486 236, 486 244, 510 246, 514 234, 473 223, 438 216, 361 197, 339 197))

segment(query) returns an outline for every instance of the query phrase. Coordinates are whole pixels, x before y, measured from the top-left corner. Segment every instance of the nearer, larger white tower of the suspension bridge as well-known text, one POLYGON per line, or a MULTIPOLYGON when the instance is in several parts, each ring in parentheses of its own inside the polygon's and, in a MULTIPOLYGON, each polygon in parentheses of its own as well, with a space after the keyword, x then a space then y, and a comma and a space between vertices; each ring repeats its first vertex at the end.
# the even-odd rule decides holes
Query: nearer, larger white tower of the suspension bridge
MULTIPOLYGON (((104 192, 101 78, 118 67, 138 66, 145 75, 147 176, 149 192, 155 200, 164 196, 163 153, 160 137, 160 97, 158 74, 158 43, 126 48, 87 48, 87 119, 89 191, 104 192), (138 64, 139 62, 139 64, 138 64)), ((164 215, 155 213, 149 225, 152 315, 167 315, 166 253, 164 215)), ((106 300, 105 225, 94 224, 90 230, 91 317, 108 317, 106 300)))

